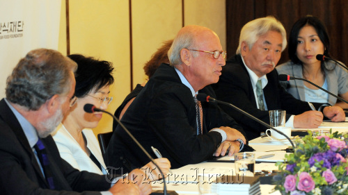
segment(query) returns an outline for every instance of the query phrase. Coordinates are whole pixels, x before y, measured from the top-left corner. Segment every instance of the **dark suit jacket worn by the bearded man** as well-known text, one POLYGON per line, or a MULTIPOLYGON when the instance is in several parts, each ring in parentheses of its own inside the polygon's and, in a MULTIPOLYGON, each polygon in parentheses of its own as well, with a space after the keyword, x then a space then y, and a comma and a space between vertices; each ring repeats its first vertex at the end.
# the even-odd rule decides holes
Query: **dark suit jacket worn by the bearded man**
POLYGON ((80 194, 78 192, 84 190, 106 191, 111 187, 105 176, 80 172, 62 160, 49 135, 42 142, 47 148, 57 191, 49 189, 22 127, 3 99, 0 101, 0 127, 0 194, 80 194))

